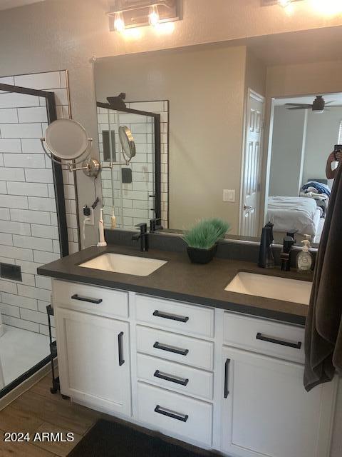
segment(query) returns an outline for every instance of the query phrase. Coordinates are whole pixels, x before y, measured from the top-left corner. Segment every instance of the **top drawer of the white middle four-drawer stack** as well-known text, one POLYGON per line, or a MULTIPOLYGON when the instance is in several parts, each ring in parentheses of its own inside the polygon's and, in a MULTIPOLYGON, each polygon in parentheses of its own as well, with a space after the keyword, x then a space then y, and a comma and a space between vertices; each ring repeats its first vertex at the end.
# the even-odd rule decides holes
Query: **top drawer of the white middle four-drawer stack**
POLYGON ((135 297, 137 321, 181 333, 194 333, 211 338, 214 336, 214 310, 204 306, 137 295, 135 297))

